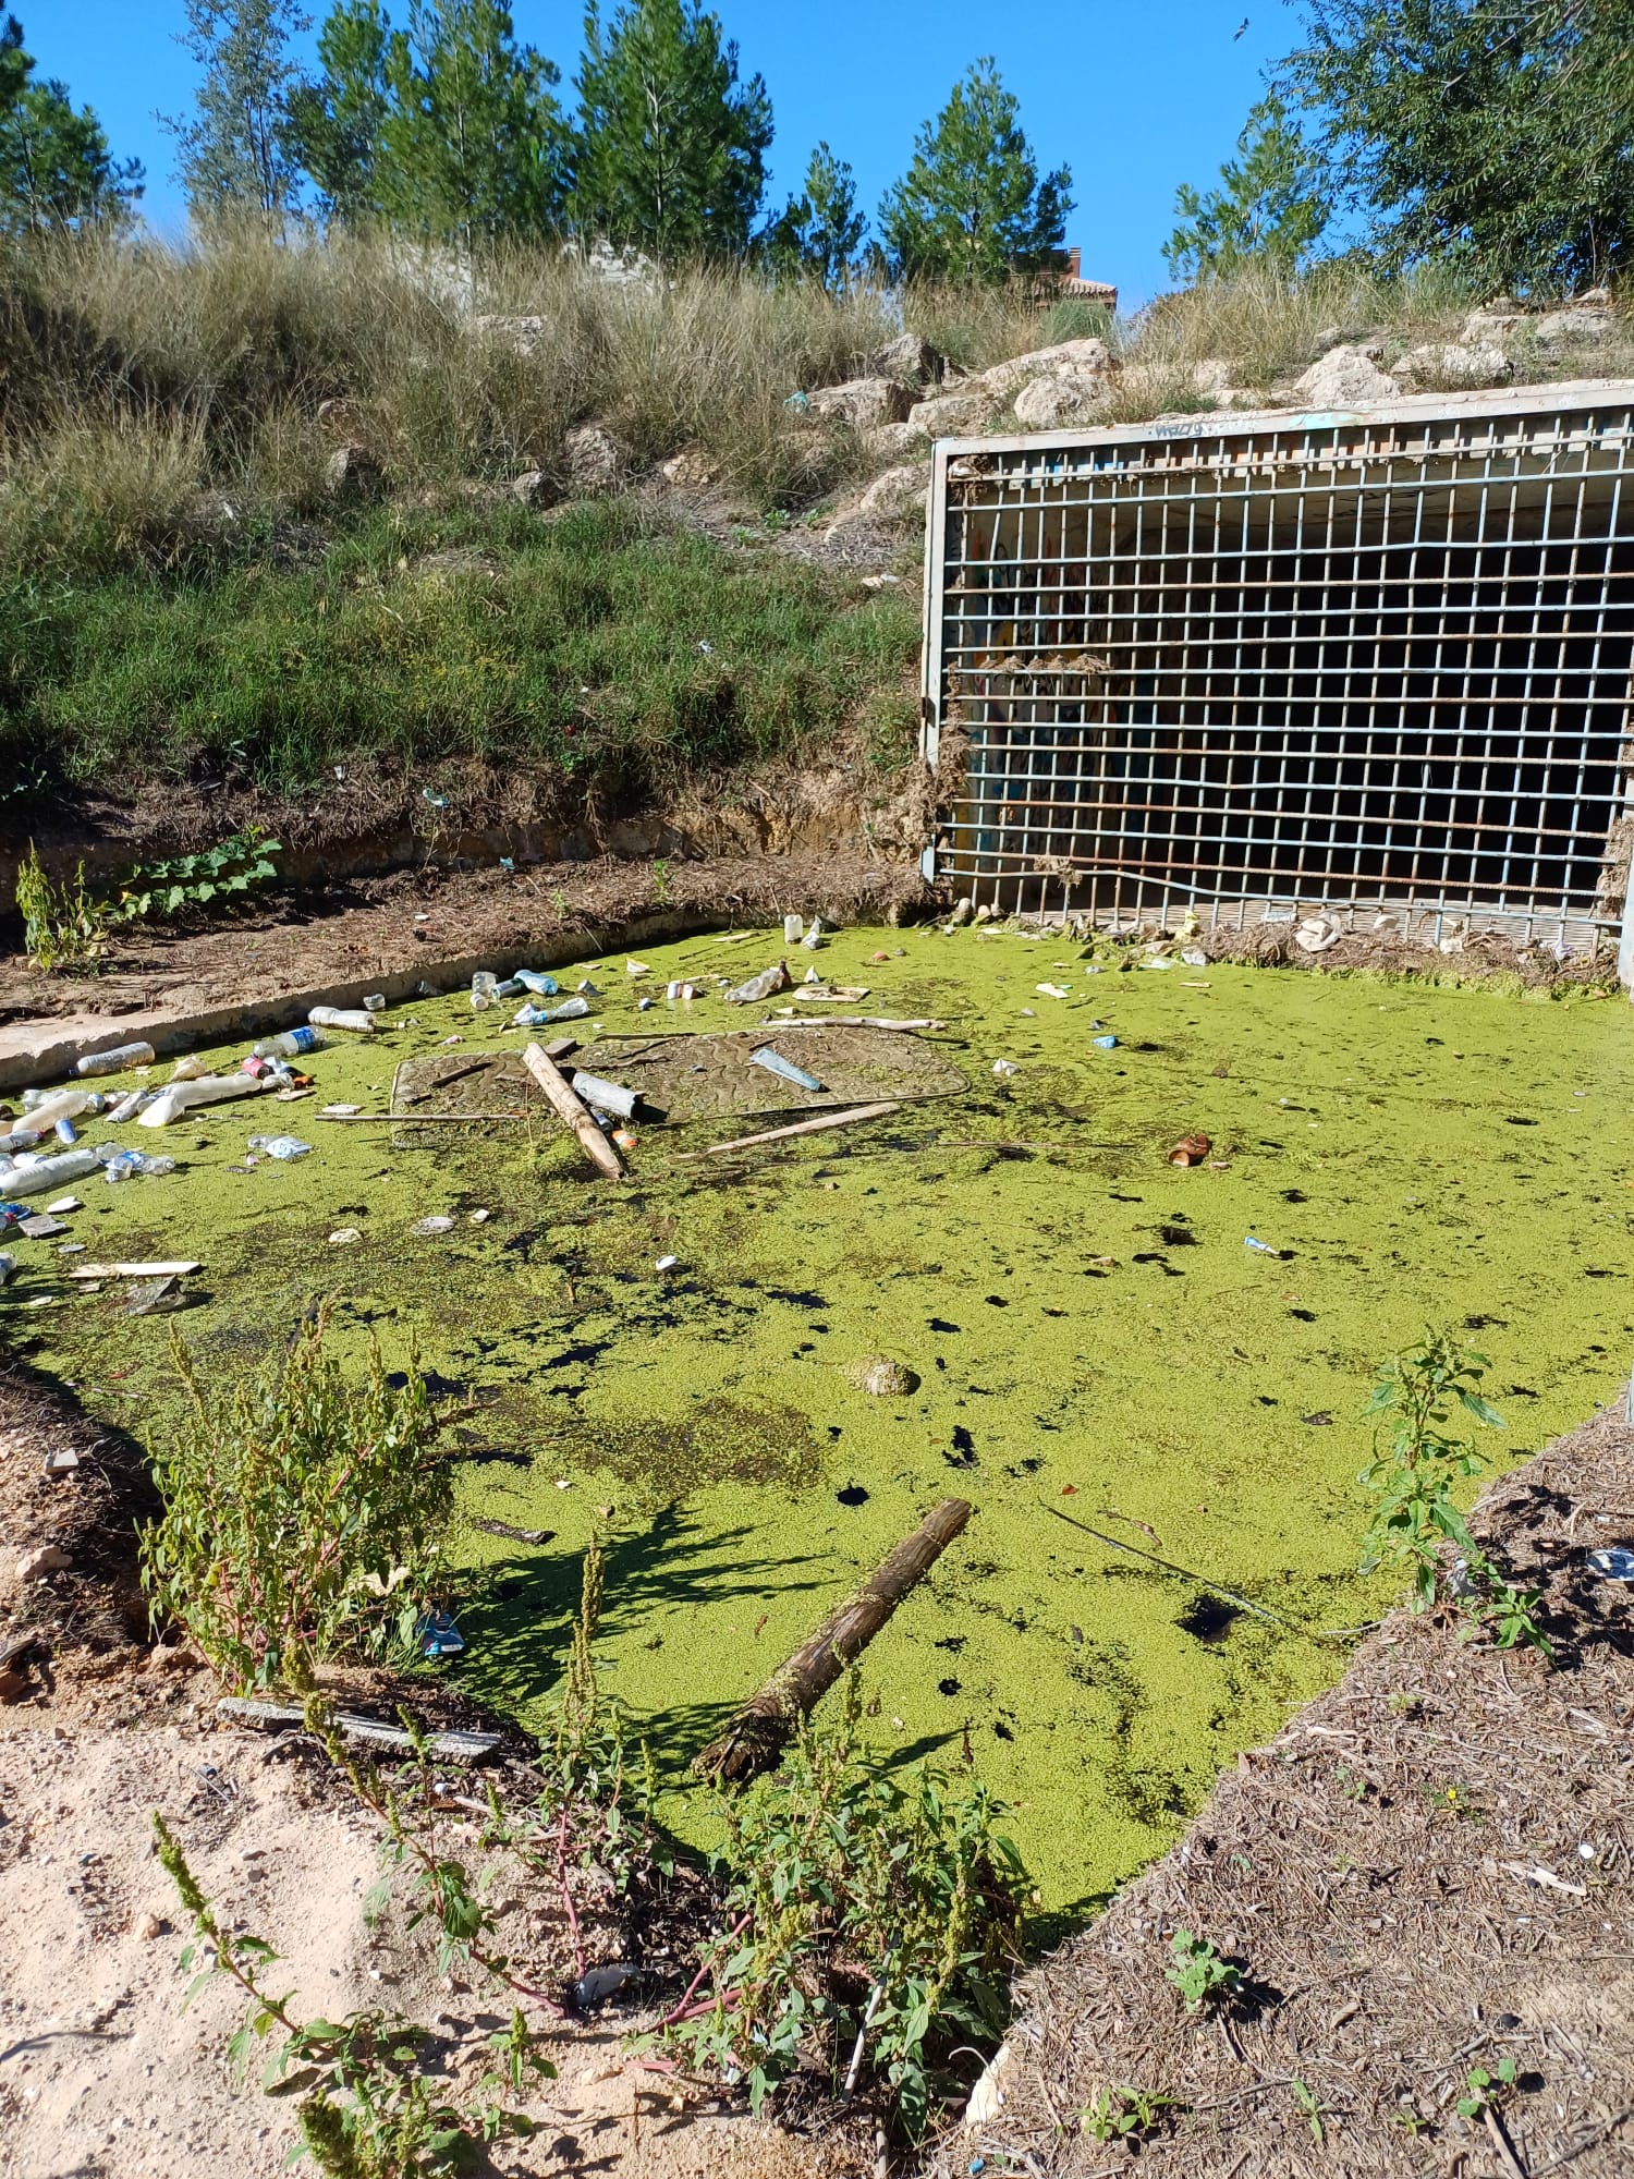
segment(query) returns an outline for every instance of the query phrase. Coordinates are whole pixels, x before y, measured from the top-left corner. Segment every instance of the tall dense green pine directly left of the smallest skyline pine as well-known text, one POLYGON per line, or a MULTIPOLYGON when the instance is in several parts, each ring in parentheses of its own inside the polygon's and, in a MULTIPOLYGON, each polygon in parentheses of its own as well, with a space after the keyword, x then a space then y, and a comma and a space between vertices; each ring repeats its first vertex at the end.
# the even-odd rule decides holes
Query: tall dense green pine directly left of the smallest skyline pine
POLYGON ((584 20, 573 220, 662 259, 739 257, 765 194, 771 100, 699 0, 584 20))

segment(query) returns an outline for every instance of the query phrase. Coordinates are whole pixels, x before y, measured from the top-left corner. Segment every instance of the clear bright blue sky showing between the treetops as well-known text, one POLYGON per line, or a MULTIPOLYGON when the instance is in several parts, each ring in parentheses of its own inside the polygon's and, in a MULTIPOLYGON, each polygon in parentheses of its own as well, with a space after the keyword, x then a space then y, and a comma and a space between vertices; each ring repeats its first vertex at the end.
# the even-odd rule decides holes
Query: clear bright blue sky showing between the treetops
MULTIPOLYGON (((61 76, 76 102, 96 107, 115 155, 146 163, 148 218, 179 229, 174 148, 155 113, 183 109, 192 94, 192 63, 174 44, 181 0, 0 4, 22 17, 41 74, 61 76)), ((325 0, 309 7, 320 15, 325 0)), ((571 81, 582 7, 514 0, 512 13, 519 37, 571 81)), ((1039 163, 1072 168, 1078 209, 1068 240, 1083 246, 1085 275, 1115 281, 1129 305, 1166 285, 1174 185, 1214 179, 1266 65, 1298 33, 1285 0, 717 0, 717 13, 739 41, 743 72, 758 70, 771 92, 769 194, 778 203, 826 137, 856 168, 871 209, 954 78, 978 54, 996 54, 1039 163), (1244 11, 1248 28, 1233 37, 1244 11)))

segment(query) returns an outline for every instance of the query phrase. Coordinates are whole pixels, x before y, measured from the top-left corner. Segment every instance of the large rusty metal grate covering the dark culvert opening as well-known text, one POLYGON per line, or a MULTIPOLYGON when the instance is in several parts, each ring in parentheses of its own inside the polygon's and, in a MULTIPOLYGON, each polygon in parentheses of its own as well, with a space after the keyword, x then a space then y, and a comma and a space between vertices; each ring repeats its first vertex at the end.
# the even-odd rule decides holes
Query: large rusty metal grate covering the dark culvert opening
POLYGON ((928 867, 1000 909, 1623 920, 1634 386, 937 447, 928 867))

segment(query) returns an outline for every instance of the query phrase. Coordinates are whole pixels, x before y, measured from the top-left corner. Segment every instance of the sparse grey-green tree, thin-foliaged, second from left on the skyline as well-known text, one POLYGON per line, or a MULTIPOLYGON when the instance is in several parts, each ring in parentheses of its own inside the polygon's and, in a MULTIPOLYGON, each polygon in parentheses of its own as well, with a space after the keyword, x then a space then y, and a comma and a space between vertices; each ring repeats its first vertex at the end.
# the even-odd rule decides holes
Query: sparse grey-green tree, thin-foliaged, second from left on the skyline
POLYGON ((290 39, 312 26, 294 0, 185 0, 187 48, 203 83, 194 120, 163 118, 181 148, 181 185, 196 220, 294 209, 298 170, 285 144, 296 85, 290 39))

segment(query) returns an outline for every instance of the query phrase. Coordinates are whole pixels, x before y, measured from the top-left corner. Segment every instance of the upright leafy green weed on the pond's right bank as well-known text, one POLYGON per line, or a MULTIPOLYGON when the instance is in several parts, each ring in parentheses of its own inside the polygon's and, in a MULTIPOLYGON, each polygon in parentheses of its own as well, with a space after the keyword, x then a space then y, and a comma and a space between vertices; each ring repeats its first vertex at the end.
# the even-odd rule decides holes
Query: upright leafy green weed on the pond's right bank
POLYGON ((1453 1412, 1462 1408, 1486 1429, 1503 1429, 1503 1416, 1477 1390, 1490 1366, 1447 1331, 1429 1331, 1379 1371, 1364 1414, 1386 1419, 1390 1449, 1357 1477, 1375 1495, 1362 1571, 1407 1567, 1416 1608, 1427 1610, 1444 1591, 1442 1554, 1451 1543, 1464 1562, 1455 1602, 1471 1628, 1484 1628, 1501 1650, 1527 1643, 1551 1658, 1540 1593, 1505 1580, 1453 1504, 1453 1486, 1486 1466, 1468 1440, 1449 1436, 1453 1412))

